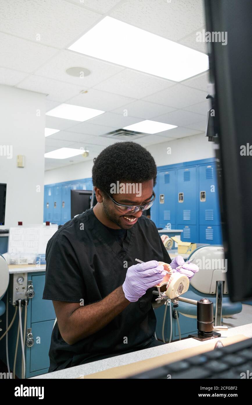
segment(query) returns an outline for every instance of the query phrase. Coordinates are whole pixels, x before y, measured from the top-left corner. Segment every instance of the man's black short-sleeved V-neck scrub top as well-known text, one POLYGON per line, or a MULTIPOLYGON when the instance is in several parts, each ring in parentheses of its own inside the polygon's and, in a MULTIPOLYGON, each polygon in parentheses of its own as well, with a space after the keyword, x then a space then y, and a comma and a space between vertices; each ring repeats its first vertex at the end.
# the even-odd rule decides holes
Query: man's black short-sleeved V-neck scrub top
MULTIPOLYGON (((154 222, 144 215, 123 232, 121 246, 115 236, 97 219, 92 208, 63 225, 46 247, 43 299, 71 303, 84 300, 84 305, 88 305, 122 286, 127 269, 136 264, 135 258, 143 262, 171 262, 154 222)), ((104 328, 73 345, 62 339, 56 323, 49 350, 49 372, 148 345, 156 327, 151 305, 154 289, 149 288, 104 328)))

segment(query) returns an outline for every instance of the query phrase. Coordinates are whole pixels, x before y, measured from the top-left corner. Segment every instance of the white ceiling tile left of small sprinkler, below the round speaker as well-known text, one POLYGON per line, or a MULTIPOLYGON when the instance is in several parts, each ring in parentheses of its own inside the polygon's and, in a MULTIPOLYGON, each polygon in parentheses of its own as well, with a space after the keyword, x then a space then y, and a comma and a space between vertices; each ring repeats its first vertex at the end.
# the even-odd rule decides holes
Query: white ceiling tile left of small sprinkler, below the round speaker
POLYGON ((17 87, 31 90, 32 92, 48 94, 48 100, 59 102, 64 102, 76 96, 82 90, 82 87, 74 84, 62 83, 61 81, 35 75, 27 77, 17 87))

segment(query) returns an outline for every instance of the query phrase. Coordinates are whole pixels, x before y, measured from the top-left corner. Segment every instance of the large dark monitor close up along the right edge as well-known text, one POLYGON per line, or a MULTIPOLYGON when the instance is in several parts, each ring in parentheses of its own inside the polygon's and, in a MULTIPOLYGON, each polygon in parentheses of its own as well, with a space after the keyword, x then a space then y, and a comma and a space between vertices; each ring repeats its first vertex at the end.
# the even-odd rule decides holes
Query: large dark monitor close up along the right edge
POLYGON ((252 2, 205 0, 205 11, 206 32, 219 38, 208 45, 227 282, 231 301, 245 301, 252 298, 252 2))

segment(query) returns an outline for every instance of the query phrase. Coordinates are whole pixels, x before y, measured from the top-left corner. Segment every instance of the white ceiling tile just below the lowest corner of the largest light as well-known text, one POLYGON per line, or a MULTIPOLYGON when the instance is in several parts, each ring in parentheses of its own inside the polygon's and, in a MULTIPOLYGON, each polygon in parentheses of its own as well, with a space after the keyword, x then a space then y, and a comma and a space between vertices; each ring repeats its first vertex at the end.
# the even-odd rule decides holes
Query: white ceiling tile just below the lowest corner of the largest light
POLYGON ((180 109, 204 101, 206 96, 207 92, 176 84, 168 89, 145 97, 144 100, 180 109))

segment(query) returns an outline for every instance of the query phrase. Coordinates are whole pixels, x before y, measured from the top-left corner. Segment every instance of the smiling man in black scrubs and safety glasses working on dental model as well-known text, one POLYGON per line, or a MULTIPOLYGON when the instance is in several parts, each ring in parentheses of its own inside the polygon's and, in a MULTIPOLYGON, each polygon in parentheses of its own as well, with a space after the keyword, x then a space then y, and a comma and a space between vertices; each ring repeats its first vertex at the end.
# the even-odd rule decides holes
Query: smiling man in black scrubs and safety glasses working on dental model
POLYGON ((155 199, 156 175, 153 157, 137 143, 105 148, 92 170, 97 205, 48 241, 43 298, 57 316, 49 372, 162 344, 154 338, 152 291, 165 274, 158 261, 171 260, 142 215, 155 199), (141 192, 112 193, 117 182, 141 192))

